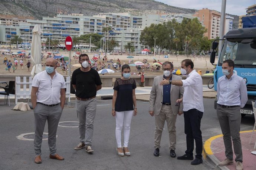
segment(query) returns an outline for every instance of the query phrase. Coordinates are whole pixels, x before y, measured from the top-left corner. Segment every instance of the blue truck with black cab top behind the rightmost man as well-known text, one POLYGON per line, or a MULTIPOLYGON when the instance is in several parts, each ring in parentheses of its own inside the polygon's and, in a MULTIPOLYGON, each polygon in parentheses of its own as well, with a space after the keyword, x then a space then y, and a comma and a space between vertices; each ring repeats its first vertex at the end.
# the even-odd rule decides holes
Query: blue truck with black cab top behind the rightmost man
MULTIPOLYGON (((255 20, 256 21, 256 20, 255 20)), ((245 24, 244 24, 245 25, 245 24)), ((226 59, 234 61, 234 74, 241 76, 246 82, 248 101, 244 108, 240 109, 242 116, 253 115, 252 101, 256 100, 256 27, 240 28, 227 32, 223 37, 224 43, 218 56, 217 64, 214 64, 216 57, 217 40, 212 43, 210 62, 216 65, 214 70, 214 89, 217 91, 217 81, 223 76, 222 63, 226 59)), ((214 101, 214 109, 217 108, 217 96, 214 101)))

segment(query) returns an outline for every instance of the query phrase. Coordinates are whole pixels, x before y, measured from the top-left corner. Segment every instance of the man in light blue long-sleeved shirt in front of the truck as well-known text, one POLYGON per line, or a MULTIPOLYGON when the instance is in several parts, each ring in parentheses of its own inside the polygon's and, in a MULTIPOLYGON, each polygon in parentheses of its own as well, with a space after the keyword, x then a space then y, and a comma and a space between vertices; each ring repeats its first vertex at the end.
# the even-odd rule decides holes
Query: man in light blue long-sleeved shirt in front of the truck
POLYGON ((233 150, 236 155, 236 169, 243 169, 243 154, 240 140, 240 108, 247 102, 247 88, 244 79, 234 72, 234 61, 227 59, 223 61, 222 72, 224 76, 218 79, 217 83, 217 116, 220 128, 223 133, 226 159, 219 163, 219 166, 226 166, 233 163, 233 150))

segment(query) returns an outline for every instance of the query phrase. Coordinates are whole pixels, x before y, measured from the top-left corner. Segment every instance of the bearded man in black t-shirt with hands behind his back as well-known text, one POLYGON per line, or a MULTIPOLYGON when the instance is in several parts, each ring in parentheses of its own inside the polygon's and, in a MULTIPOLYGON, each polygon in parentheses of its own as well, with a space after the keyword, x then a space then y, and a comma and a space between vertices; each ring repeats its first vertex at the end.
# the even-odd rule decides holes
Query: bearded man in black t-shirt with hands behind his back
POLYGON ((79 56, 81 68, 76 69, 72 74, 72 85, 76 90, 76 112, 79 120, 80 143, 75 150, 85 148, 86 152, 92 150, 93 122, 96 115, 96 91, 101 89, 101 78, 95 69, 89 66, 87 54, 79 56))

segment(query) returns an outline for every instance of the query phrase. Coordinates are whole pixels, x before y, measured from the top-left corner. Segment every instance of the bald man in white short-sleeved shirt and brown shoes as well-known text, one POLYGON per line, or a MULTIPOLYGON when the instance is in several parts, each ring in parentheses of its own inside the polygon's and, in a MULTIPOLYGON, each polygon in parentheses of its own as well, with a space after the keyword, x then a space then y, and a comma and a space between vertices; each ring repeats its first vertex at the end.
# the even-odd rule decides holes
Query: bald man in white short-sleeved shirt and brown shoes
POLYGON ((56 69, 56 60, 46 60, 46 70, 36 74, 32 81, 31 102, 35 115, 36 153, 35 163, 41 163, 41 145, 45 122, 48 122, 48 145, 50 159, 64 160, 56 153, 56 132, 60 116, 65 104, 66 83, 64 77, 56 69))

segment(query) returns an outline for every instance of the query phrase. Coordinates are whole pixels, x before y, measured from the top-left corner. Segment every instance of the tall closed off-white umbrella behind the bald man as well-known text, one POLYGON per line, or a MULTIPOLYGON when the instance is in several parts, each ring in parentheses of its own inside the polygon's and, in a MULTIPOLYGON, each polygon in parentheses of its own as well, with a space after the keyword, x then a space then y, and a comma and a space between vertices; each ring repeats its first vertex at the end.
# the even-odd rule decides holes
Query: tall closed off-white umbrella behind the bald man
POLYGON ((39 25, 35 25, 32 30, 32 44, 31 44, 31 61, 34 65, 31 71, 32 78, 43 71, 41 65, 41 54, 42 54, 42 45, 40 35, 43 33, 39 25))

